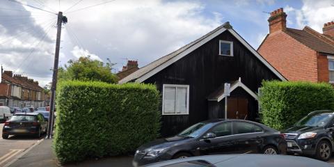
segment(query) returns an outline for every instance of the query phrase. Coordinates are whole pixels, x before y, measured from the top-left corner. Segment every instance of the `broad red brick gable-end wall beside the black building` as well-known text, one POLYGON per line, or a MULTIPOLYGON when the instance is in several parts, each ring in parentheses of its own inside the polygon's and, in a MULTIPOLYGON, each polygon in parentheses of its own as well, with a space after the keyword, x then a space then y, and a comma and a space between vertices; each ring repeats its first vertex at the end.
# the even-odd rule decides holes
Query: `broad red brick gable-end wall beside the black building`
POLYGON ((283 31, 270 33, 258 52, 289 81, 318 81, 317 52, 283 31))

